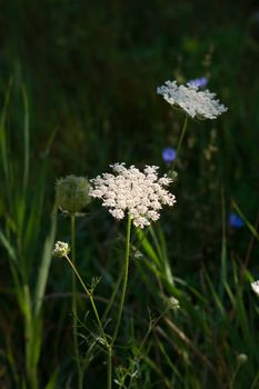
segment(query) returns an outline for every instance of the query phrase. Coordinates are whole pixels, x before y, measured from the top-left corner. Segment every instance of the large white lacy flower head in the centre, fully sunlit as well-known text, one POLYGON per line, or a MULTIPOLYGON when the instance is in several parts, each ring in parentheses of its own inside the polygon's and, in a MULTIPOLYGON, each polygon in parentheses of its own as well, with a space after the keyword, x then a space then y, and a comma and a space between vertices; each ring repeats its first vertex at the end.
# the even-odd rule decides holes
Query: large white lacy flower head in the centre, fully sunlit
POLYGON ((114 174, 103 173, 90 180, 89 196, 102 199, 102 206, 116 219, 126 212, 135 226, 145 228, 159 219, 162 205, 173 206, 176 198, 165 187, 172 181, 165 174, 158 178, 158 167, 146 166, 143 172, 135 166, 111 164, 114 174))

